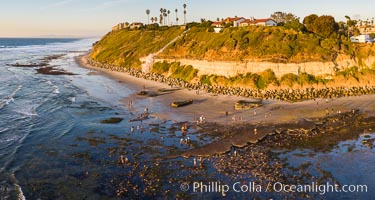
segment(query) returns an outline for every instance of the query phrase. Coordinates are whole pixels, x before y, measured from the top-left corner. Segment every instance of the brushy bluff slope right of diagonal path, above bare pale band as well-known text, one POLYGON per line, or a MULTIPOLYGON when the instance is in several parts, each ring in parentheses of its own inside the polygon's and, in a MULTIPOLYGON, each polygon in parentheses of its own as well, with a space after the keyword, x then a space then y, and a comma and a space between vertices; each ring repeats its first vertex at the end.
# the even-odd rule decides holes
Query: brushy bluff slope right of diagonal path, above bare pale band
POLYGON ((162 58, 209 61, 269 61, 301 63, 332 61, 352 52, 345 36, 323 38, 315 33, 285 27, 233 27, 220 33, 212 27, 194 26, 167 48, 162 58))

